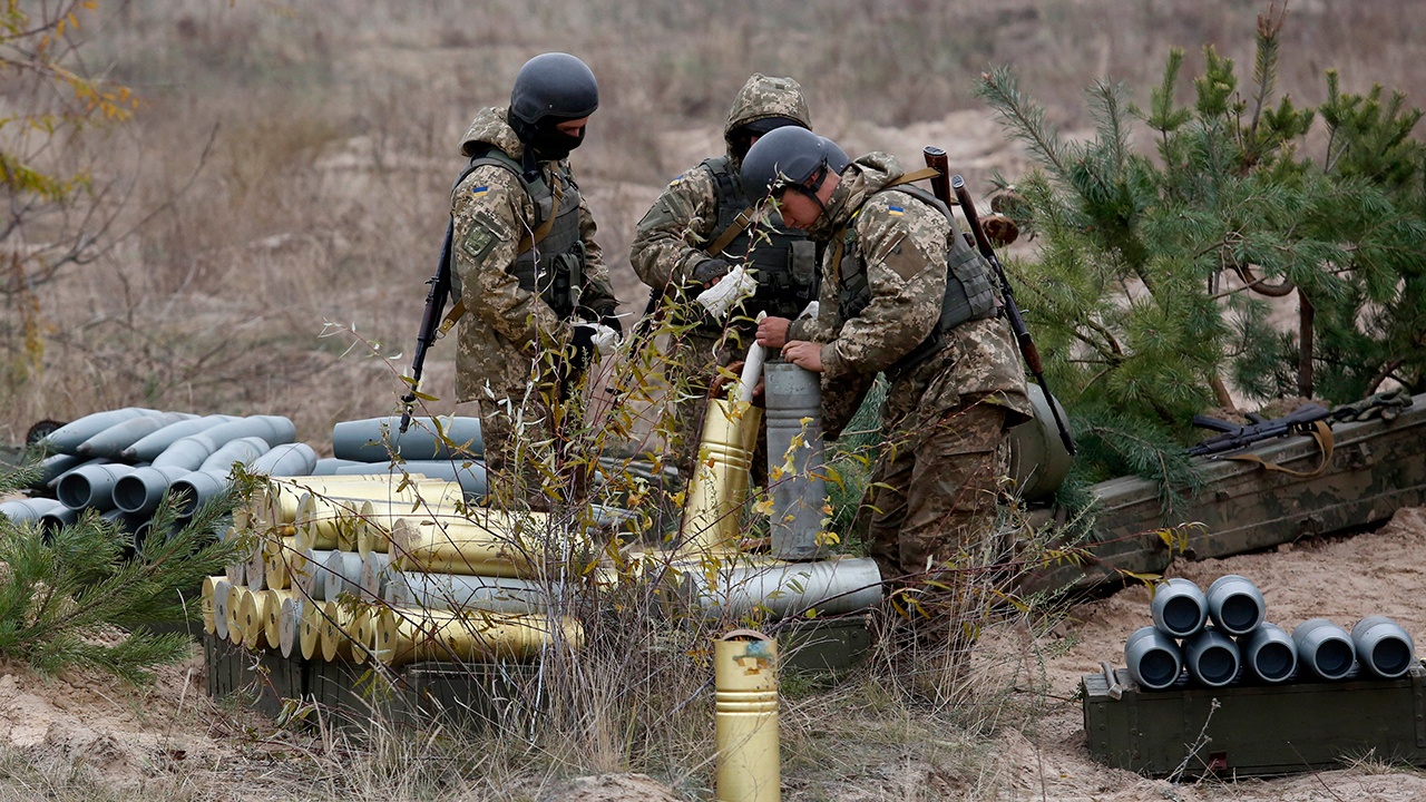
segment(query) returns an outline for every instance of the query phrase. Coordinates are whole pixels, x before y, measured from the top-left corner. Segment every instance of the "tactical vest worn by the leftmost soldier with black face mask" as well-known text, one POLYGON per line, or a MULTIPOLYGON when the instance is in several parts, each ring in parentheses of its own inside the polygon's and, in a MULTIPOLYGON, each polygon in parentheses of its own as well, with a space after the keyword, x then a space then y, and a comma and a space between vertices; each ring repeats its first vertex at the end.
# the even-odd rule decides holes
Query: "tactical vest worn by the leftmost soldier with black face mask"
POLYGON ((519 161, 492 147, 471 160, 462 180, 485 164, 513 173, 535 204, 535 220, 520 237, 509 273, 519 280, 522 290, 539 293, 556 315, 572 317, 585 284, 585 241, 579 235, 580 196, 575 177, 565 163, 556 163, 552 170, 553 186, 545 181, 543 174, 528 181, 519 161))

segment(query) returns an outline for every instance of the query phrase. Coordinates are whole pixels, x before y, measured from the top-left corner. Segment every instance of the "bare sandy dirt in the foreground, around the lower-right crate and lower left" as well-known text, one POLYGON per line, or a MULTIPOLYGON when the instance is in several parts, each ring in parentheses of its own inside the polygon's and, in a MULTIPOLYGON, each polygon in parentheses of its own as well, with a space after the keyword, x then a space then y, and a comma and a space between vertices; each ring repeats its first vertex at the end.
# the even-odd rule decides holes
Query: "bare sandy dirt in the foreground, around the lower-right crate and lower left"
MULTIPOLYGON (((1419 559, 1423 541, 1426 509, 1403 509, 1375 532, 1301 541, 1265 554, 1185 562, 1171 572, 1201 587, 1224 574, 1241 574, 1262 589, 1268 618, 1288 629, 1309 618, 1328 618, 1350 628, 1366 615, 1385 614, 1420 639, 1426 632, 1426 608, 1420 604, 1426 569, 1419 559)), ((1085 802, 1426 799, 1426 772, 1376 759, 1363 759, 1340 771, 1278 779, 1184 783, 1144 779, 1095 763, 1085 749, 1082 712, 1075 698, 1079 679, 1098 671, 1099 661, 1122 665, 1125 638, 1147 624, 1148 591, 1134 587, 1074 608, 1070 619, 1050 635, 1070 639, 1068 648, 1051 649, 1061 656, 1047 666, 1051 698, 1060 701, 1028 728, 1028 735, 1010 732, 994 745, 991 769, 1002 776, 995 798, 1085 802)), ((201 672, 200 659, 165 669, 151 689, 125 691, 93 676, 41 681, 27 669, 0 664, 0 748, 36 763, 86 765, 113 788, 141 788, 145 778, 180 766, 188 772, 231 771, 251 761, 254 751, 274 746, 264 735, 271 732, 268 722, 214 705, 204 695, 201 672)), ((884 772, 877 772, 877 779, 848 781, 830 798, 888 799, 896 798, 887 795, 891 786, 903 786, 907 799, 923 799, 927 796, 924 789, 918 791, 918 781, 930 771, 915 765, 886 766, 884 772), (867 782, 886 786, 868 796, 867 782)), ((248 796, 240 788, 234 788, 238 798, 270 798, 248 796)), ((0 798, 9 796, 0 793, 0 798)), ((546 788, 540 798, 558 802, 677 799, 672 789, 642 775, 582 778, 546 788)))

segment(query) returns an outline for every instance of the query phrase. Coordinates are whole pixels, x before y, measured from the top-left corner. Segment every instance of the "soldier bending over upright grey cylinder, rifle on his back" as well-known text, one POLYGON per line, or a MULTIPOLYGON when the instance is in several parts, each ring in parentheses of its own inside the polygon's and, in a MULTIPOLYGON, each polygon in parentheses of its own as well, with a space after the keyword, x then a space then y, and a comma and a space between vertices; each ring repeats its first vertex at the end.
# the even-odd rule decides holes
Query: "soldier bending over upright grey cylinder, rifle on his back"
POLYGON ((757 340, 821 372, 823 428, 840 432, 877 372, 891 382, 863 514, 883 579, 964 565, 994 524, 1004 432, 1031 415, 990 267, 894 157, 838 170, 826 140, 789 128, 743 160, 743 186, 829 243, 816 320, 767 318, 757 340))

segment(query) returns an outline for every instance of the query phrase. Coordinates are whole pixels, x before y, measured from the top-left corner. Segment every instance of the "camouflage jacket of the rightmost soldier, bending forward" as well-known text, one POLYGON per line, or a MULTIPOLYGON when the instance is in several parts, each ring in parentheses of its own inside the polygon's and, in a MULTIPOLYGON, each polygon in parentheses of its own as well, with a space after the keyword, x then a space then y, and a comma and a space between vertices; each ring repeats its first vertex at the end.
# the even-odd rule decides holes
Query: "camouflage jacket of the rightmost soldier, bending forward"
MULTIPOLYGON (((819 227, 831 240, 823 258, 816 320, 794 321, 789 340, 821 342, 824 427, 840 431, 878 371, 896 365, 935 327, 945 295, 950 221, 940 210, 897 188, 897 160, 873 153, 853 161, 819 227), (860 250, 871 301, 841 318, 841 277, 833 274, 838 238, 860 250)), ((1001 317, 951 330, 940 351, 894 377, 883 408, 886 431, 920 430, 971 400, 988 398, 1011 412, 1010 425, 1031 415, 1025 374, 1010 324, 1001 317)))

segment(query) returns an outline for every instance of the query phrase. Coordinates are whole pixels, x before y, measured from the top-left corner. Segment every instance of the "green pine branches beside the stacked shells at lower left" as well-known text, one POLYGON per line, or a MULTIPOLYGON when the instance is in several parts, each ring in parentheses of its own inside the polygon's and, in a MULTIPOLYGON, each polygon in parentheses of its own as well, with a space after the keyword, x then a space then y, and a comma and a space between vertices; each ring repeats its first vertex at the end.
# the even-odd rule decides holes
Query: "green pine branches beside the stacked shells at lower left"
MULTIPOLYGON (((3 475, 0 495, 27 484, 3 475)), ((0 656, 43 675, 80 668, 151 682, 153 668, 193 654, 185 632, 161 629, 194 621, 202 578, 235 557, 237 544, 212 534, 230 512, 231 501, 214 499, 180 522, 165 499, 137 544, 93 511, 54 531, 0 517, 0 656)))

